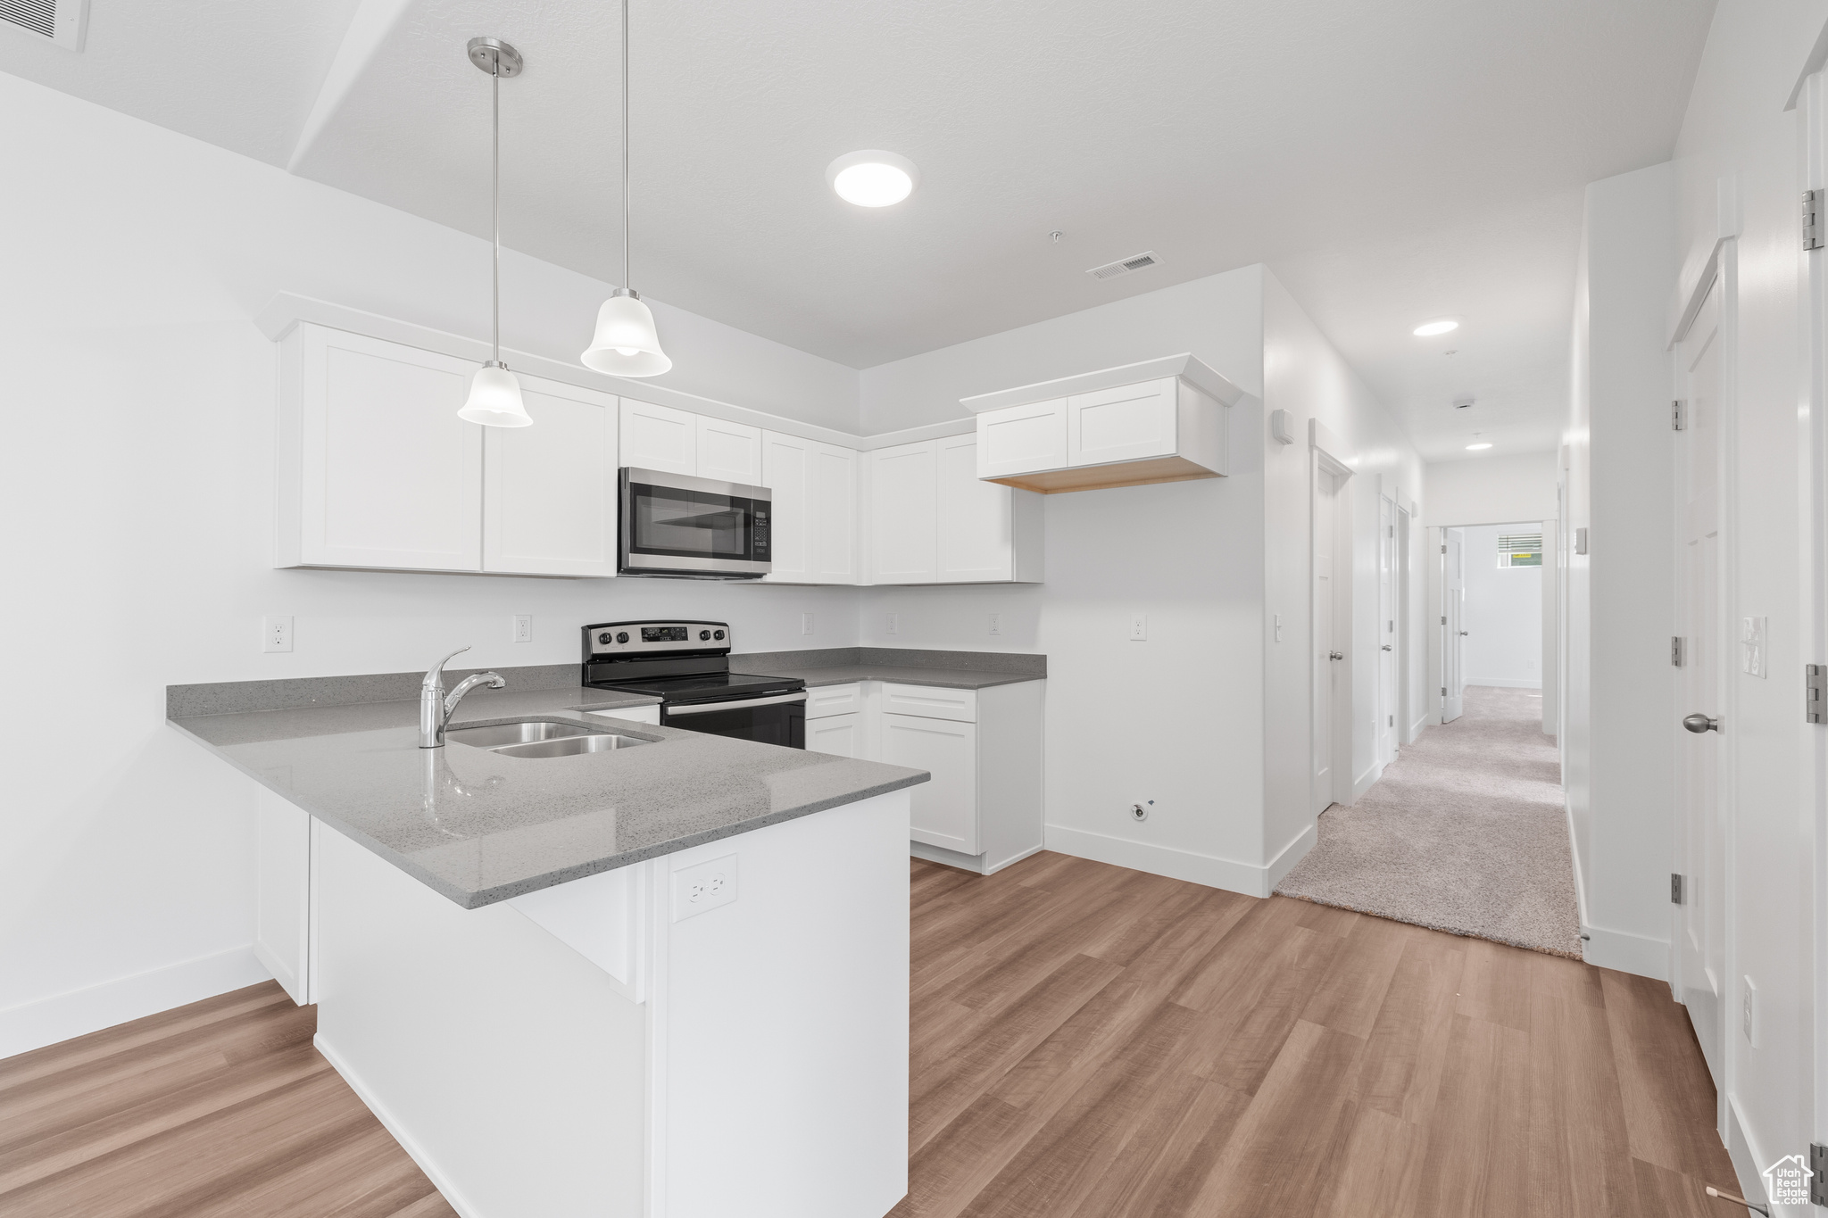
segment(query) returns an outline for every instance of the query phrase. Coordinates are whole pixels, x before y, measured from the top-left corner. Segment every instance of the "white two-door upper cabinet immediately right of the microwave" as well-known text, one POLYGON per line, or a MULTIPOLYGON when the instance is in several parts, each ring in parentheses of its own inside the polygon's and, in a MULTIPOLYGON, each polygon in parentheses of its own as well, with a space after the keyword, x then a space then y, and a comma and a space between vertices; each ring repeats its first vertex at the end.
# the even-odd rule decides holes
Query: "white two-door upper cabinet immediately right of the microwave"
POLYGON ((857 453, 762 433, 762 486, 773 491, 777 584, 857 583, 857 453))

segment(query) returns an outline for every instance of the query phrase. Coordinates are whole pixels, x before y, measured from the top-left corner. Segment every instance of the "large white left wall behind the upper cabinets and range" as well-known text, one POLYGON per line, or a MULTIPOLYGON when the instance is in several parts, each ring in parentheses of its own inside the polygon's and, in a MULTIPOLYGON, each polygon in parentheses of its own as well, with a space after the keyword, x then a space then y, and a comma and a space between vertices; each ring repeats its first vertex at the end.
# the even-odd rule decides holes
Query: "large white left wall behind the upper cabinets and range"
MULTIPOLYGON (((274 292, 486 336, 488 247, 0 75, 0 1055, 261 979, 252 789, 165 727, 165 685, 569 663, 612 615, 740 648, 857 639, 856 593, 276 572, 274 292), (817 632, 799 634, 799 614, 817 632), (261 614, 296 617, 263 656, 261 614), (534 641, 508 643, 510 614, 534 641), (71 732, 106 723, 106 734, 71 732)), ((574 360, 609 285, 503 256, 503 341, 574 360)), ((856 427, 856 373, 656 305, 678 389, 856 427)))

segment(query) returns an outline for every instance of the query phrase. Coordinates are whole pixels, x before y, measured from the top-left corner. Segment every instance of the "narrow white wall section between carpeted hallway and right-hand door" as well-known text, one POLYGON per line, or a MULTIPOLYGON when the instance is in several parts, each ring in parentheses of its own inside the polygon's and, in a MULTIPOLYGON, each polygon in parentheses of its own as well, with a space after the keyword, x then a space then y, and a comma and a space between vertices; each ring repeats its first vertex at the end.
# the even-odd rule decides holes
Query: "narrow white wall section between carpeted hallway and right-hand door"
POLYGON ((1673 393, 1676 270, 1669 164, 1587 188, 1585 383, 1568 422, 1568 813, 1587 959, 1669 977, 1674 690, 1673 393))

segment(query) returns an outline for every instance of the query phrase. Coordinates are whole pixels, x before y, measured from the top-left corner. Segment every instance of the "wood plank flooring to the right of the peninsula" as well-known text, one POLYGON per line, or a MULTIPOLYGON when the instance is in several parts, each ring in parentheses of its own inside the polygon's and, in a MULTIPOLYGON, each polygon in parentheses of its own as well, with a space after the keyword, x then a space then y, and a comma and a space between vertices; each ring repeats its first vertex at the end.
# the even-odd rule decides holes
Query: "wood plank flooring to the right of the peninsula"
POLYGON ((1742 1216, 1669 986, 1036 855, 914 862, 896 1218, 1742 1216))

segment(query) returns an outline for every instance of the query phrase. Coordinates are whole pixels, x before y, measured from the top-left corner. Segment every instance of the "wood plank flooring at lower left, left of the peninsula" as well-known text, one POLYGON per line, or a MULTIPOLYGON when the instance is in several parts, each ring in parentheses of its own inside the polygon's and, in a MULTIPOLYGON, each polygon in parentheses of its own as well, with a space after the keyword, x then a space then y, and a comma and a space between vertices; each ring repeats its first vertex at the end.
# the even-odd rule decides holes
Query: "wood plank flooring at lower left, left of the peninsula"
POLYGON ((0 1061, 5 1218, 455 1218, 263 982, 0 1061))

